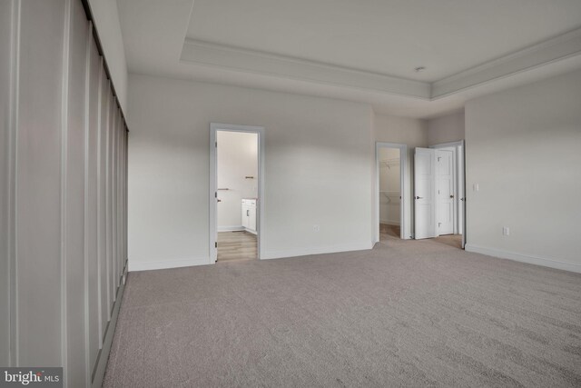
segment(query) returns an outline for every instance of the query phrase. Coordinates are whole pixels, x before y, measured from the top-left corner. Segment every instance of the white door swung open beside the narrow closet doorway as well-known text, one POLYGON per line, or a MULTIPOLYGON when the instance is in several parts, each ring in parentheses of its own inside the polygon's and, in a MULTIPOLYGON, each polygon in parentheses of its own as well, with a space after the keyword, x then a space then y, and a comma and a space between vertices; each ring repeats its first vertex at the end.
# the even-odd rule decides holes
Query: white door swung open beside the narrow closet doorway
POLYGON ((415 238, 436 237, 436 150, 416 148, 414 154, 415 238))

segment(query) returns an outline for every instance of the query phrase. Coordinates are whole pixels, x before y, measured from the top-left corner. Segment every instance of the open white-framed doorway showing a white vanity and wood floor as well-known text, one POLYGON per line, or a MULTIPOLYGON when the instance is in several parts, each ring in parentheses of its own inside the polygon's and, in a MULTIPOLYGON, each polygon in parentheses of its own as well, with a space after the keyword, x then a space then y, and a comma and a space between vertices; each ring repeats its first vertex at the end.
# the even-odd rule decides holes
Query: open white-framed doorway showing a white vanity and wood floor
POLYGON ((211 264, 261 256, 262 130, 211 124, 211 264))

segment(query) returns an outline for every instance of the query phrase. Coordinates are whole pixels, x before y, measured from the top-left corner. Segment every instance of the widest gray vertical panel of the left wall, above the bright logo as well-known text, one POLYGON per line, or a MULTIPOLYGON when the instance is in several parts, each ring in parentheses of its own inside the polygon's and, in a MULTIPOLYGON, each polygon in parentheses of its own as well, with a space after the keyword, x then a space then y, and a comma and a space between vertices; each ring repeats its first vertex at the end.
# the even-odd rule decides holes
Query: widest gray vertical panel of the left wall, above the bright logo
POLYGON ((17 363, 61 366, 65 2, 21 0, 20 5, 15 206, 17 363))

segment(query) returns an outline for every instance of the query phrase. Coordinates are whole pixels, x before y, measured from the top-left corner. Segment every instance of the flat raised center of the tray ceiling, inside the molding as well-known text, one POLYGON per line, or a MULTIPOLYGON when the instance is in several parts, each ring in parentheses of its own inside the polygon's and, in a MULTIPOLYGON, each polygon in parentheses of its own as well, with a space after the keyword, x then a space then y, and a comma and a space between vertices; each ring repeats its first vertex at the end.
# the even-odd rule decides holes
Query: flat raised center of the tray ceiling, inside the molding
POLYGON ((187 36, 434 82, 580 25, 579 0, 195 0, 187 36))

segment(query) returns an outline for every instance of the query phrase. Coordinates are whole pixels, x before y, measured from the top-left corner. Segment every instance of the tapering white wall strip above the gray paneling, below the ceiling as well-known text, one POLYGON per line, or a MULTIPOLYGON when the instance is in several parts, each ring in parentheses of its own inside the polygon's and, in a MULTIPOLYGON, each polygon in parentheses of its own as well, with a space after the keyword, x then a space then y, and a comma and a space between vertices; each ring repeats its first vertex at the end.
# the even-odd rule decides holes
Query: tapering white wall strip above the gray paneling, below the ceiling
POLYGON ((126 114, 125 120, 129 122, 127 110, 127 61, 121 33, 121 22, 117 0, 89 0, 93 12, 95 28, 99 32, 103 53, 107 58, 107 65, 111 72, 115 92, 119 98, 119 104, 126 114))

